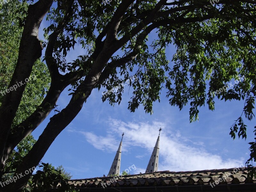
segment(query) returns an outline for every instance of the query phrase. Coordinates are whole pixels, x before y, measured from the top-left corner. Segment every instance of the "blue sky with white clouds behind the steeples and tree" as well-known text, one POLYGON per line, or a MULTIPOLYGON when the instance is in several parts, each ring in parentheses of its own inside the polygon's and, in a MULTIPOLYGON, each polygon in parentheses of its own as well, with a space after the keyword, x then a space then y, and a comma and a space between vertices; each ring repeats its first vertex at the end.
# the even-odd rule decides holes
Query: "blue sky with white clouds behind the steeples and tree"
MULTIPOLYGON (((46 25, 46 21, 43 21, 41 39, 46 25)), ((169 60, 172 60, 173 50, 175 48, 172 46, 166 50, 169 60)), ((75 47, 67 60, 75 60, 83 52, 75 47)), ((68 96, 69 88, 61 93, 58 109, 68 104, 71 98, 68 96)), ((103 91, 92 91, 80 113, 55 139, 42 162, 63 165, 67 172, 71 172, 73 179, 107 175, 124 132, 121 171, 134 164, 136 170, 132 170, 131 174, 144 173, 160 127, 158 171, 233 168, 245 164, 249 158, 248 142, 254 138, 253 122, 246 122, 246 141, 238 137, 233 140, 229 135, 230 126, 242 113, 243 101, 215 100, 214 112, 209 111, 207 106, 203 107, 199 121, 189 123, 190 106, 185 106, 181 111, 171 107, 165 97, 166 90, 161 92, 161 102, 154 103, 153 115, 145 114, 143 106, 135 113, 129 112, 127 107, 132 91, 129 92, 128 86, 125 87, 121 104, 115 107, 108 102, 102 103, 103 91)), ((54 112, 32 133, 36 139, 52 115, 54 112)))

